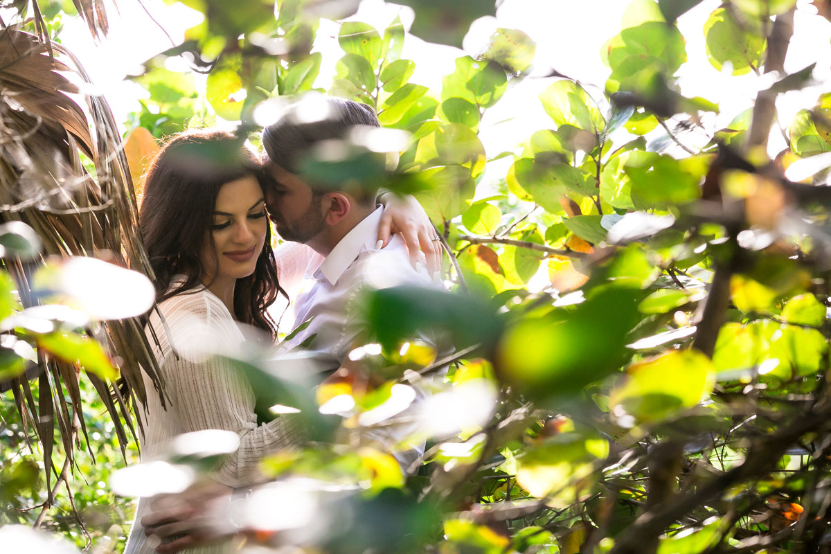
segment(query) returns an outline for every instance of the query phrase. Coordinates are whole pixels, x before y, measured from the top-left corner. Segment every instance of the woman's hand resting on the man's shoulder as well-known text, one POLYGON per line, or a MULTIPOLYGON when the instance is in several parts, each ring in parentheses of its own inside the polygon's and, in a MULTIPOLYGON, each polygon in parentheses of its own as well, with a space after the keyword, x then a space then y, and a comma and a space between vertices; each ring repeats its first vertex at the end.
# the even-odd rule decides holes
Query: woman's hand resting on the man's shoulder
POLYGON ((390 242, 390 233, 399 233, 410 253, 410 262, 416 271, 420 269, 420 252, 424 252, 427 272, 436 281, 440 278, 441 243, 435 226, 427 217, 418 200, 407 195, 404 198, 393 193, 381 194, 384 213, 378 226, 378 244, 381 248, 390 242))

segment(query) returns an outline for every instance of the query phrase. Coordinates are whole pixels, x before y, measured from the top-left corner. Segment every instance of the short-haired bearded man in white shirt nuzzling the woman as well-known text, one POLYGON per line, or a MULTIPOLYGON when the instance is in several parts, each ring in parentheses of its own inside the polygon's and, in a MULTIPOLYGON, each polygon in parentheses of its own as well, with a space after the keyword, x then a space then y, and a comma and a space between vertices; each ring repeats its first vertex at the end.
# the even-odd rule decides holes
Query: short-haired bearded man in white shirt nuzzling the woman
MULTIPOLYGON (((417 248, 416 255, 422 257, 415 268, 411 265, 400 236, 394 235, 381 249, 376 237, 383 210, 376 207, 375 189, 347 177, 334 184, 312 184, 299 176, 317 149, 342 148, 337 141, 348 140, 350 133, 380 127, 375 113, 367 105, 336 97, 318 96, 306 102, 313 102, 315 110, 304 101, 289 105, 263 130, 268 155, 263 161, 273 179, 266 199, 280 236, 305 243, 320 254, 307 267, 305 289, 294 306, 296 323, 313 318, 312 322, 288 346, 315 335, 305 350, 323 370, 333 370, 366 327, 361 292, 396 285, 429 286, 431 277, 417 248), (309 120, 309 111, 323 113, 309 120)), ((440 252, 431 240, 423 241, 421 248, 428 255, 440 252)))

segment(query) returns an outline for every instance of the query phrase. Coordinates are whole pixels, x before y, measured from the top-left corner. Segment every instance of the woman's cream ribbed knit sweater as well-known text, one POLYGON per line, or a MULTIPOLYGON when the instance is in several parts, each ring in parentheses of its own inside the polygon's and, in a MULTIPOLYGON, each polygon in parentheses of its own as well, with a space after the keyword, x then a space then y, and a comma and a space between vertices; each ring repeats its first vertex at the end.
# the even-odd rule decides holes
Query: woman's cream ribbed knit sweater
MULTIPOLYGON (((159 305, 165 324, 153 312, 150 325, 160 348, 147 331, 161 375, 165 380, 167 409, 145 375, 147 404, 136 413, 145 421, 141 440, 143 461, 158 458, 175 436, 202 429, 225 429, 239 436, 238 450, 224 459, 214 480, 233 488, 262 483, 258 462, 280 449, 297 449, 304 440, 302 427, 291 415, 268 424, 257 424, 253 413, 254 395, 248 381, 228 361, 204 355, 200 345, 243 341, 228 309, 207 289, 171 297, 159 305)), ((154 547, 145 537, 141 517, 150 511, 150 498, 141 498, 125 554, 152 554, 154 547)), ((188 549, 189 554, 230 552, 229 542, 188 549)))

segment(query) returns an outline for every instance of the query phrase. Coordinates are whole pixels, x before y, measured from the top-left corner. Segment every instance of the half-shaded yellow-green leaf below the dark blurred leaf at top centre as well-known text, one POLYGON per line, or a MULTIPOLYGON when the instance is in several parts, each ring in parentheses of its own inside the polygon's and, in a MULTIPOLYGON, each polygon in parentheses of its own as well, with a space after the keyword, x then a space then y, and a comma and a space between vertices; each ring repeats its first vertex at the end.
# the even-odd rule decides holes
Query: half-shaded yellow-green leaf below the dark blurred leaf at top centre
POLYGON ((477 61, 470 56, 456 58, 456 69, 441 80, 441 101, 463 98, 489 108, 502 97, 507 84, 505 71, 495 61, 477 61))

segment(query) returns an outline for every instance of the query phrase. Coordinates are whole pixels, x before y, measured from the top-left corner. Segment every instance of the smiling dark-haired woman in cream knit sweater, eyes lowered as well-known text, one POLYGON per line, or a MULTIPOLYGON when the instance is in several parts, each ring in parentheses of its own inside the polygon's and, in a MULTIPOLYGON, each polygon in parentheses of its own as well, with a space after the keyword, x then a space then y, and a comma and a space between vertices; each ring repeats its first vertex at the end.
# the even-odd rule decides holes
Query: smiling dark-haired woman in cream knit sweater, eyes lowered
MULTIPOLYGON (((185 132, 150 164, 139 213, 159 308, 149 316, 147 333, 167 400, 163 405, 145 380, 146 404, 136 409, 143 423, 142 458, 164 453, 179 434, 232 431, 238 449, 211 474, 230 488, 262 482, 258 462, 264 455, 304 442, 302 426, 291 414, 258 425, 248 381, 227 359, 205 354, 242 343, 240 323, 276 336, 268 306, 283 289, 262 178, 256 157, 238 135, 185 132)), ((401 212, 404 218, 412 215, 401 212)), ((126 554, 154 552, 139 523, 149 511, 149 499, 141 498, 126 554)), ((228 549, 226 542, 187 552, 228 549)))

